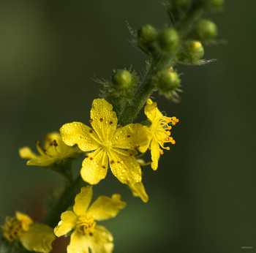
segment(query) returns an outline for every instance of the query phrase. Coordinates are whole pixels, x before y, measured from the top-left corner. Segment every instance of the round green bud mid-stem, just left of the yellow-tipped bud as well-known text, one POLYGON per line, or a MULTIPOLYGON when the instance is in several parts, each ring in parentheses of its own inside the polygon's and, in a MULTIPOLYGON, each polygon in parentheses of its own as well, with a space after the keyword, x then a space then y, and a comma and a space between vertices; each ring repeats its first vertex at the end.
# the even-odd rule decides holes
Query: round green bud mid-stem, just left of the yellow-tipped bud
POLYGON ((165 53, 173 53, 179 45, 178 33, 174 29, 165 29, 159 33, 158 37, 159 47, 165 53))

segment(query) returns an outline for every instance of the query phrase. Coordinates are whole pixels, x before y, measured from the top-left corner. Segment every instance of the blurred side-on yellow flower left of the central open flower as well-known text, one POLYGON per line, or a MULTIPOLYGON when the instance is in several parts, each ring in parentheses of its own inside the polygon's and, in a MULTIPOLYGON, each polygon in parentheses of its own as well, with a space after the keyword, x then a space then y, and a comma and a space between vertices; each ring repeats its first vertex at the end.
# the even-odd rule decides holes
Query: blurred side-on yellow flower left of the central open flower
POLYGON ((27 165, 50 166, 56 162, 60 162, 78 152, 78 148, 71 148, 61 140, 58 132, 52 132, 45 137, 45 146, 41 147, 41 143, 37 141, 38 154, 34 154, 29 147, 20 148, 20 156, 24 159, 30 159, 27 165))

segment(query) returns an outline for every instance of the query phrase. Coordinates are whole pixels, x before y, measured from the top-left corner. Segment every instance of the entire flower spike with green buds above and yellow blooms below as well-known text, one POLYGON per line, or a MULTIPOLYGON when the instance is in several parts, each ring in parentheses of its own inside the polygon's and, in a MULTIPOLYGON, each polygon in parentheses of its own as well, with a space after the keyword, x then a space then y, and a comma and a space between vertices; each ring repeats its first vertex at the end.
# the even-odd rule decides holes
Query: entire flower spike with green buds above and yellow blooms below
POLYGON ((92 187, 110 170, 133 196, 148 202, 141 166, 151 165, 157 170, 163 150, 170 150, 167 144, 176 143, 170 130, 178 123, 175 116, 161 113, 157 102, 149 97, 159 91, 167 99, 179 101, 181 79, 173 67, 209 62, 202 59, 204 46, 217 43, 217 26, 202 18, 207 12, 221 9, 222 4, 223 0, 167 0, 165 7, 173 26, 156 29, 146 24, 135 32, 128 25, 132 42, 151 58, 145 74, 140 77, 130 67, 115 70, 110 81, 97 80, 104 85, 104 98, 92 102, 89 126, 78 121, 64 124, 59 132, 46 135, 43 146, 36 142, 38 154, 29 147, 20 148, 20 156, 28 159, 26 165, 61 173, 66 188, 59 200, 49 205, 45 224, 35 223, 20 212, 15 217, 8 216, 1 226, 1 241, 11 247, 18 245, 16 252, 24 248, 50 252, 56 237, 70 235, 68 253, 113 252, 113 236, 98 222, 115 217, 126 203, 115 194, 100 196, 90 205, 92 187), (145 104, 145 121, 132 123, 145 104), (147 152, 151 159, 144 162, 141 157, 147 152), (85 157, 74 180, 72 159, 80 155, 85 157))

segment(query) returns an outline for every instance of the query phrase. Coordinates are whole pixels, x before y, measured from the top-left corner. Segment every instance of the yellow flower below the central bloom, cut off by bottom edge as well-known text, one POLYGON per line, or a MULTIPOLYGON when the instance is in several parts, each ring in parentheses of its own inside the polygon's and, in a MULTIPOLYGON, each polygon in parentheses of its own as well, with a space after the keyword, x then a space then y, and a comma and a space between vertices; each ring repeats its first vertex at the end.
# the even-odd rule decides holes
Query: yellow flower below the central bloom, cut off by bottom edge
POLYGON ((125 207, 126 203, 120 200, 120 195, 112 197, 100 196, 94 203, 91 202, 92 187, 82 187, 75 197, 73 211, 61 214, 61 221, 54 228, 56 236, 66 235, 73 230, 67 253, 110 253, 113 251, 113 236, 95 221, 110 219, 125 207))

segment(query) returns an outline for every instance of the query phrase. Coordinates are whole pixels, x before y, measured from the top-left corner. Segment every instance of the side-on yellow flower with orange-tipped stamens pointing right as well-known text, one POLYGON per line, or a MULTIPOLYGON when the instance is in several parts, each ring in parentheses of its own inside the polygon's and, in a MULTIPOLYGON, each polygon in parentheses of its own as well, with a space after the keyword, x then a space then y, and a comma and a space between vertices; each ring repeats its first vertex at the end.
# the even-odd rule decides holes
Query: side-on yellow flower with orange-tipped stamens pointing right
POLYGON ((157 102, 152 102, 151 99, 147 101, 145 114, 151 121, 151 126, 149 127, 151 131, 151 167, 153 170, 157 170, 160 154, 163 154, 161 148, 170 150, 169 147, 164 147, 164 144, 175 144, 173 137, 170 137, 170 129, 172 128, 170 124, 175 125, 178 122, 178 118, 163 116, 157 108, 157 102))

